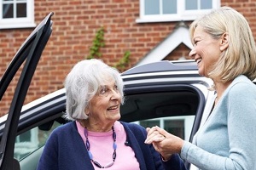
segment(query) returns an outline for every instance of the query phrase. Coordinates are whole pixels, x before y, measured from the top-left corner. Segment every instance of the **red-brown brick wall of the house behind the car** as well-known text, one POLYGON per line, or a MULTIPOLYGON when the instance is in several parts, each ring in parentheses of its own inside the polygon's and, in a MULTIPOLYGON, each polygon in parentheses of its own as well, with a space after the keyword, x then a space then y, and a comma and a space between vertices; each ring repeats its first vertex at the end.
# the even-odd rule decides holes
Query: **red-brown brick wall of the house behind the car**
MULTIPOLYGON (((256 0, 225 0, 228 5, 244 14, 256 37, 256 0)), ((177 22, 137 24, 138 0, 35 0, 37 24, 49 12, 54 12, 53 32, 39 61, 32 79, 26 101, 49 94, 63 87, 63 81, 72 66, 89 54, 96 31, 103 26, 105 44, 101 49, 102 59, 108 65, 115 65, 126 50, 131 51, 130 64, 143 58, 152 48, 172 32, 177 22)), ((0 30, 0 76, 33 29, 0 30)), ((181 44, 166 59, 188 57, 189 48, 181 44)), ((19 73, 18 73, 19 74, 19 73)), ((12 82, 14 85, 16 78, 12 82)), ((8 111, 14 86, 9 87, 0 104, 0 116, 8 111)))

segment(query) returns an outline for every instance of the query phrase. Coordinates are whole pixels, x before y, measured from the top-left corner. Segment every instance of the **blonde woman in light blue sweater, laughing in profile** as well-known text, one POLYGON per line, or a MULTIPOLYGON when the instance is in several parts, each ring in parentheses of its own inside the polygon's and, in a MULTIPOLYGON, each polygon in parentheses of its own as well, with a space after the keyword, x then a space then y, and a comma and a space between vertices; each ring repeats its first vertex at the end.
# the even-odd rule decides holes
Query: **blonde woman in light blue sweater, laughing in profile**
POLYGON ((214 82, 215 103, 193 144, 160 127, 148 128, 147 144, 166 159, 182 158, 204 170, 256 170, 256 46, 247 20, 235 9, 214 9, 190 26, 201 76, 214 82), (160 136, 165 136, 161 138, 160 136))

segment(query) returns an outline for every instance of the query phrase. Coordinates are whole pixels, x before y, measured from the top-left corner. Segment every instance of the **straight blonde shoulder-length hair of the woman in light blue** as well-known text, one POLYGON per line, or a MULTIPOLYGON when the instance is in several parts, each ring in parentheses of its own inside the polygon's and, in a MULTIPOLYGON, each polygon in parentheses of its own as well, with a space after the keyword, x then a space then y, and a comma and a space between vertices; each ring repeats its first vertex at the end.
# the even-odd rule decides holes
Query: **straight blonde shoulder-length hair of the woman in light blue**
POLYGON ((213 9, 212 12, 195 20, 189 26, 193 42, 195 28, 201 26, 213 38, 228 33, 229 47, 213 65, 208 77, 218 82, 229 82, 239 75, 256 78, 256 47, 253 33, 244 16, 230 7, 213 9))

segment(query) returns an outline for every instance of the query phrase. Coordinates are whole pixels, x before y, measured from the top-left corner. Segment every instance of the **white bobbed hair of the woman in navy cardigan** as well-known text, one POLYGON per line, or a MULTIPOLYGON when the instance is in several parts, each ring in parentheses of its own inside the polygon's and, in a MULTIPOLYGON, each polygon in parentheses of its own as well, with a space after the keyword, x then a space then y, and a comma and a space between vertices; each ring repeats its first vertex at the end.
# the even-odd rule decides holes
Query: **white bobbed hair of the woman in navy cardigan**
POLYGON ((119 71, 101 59, 85 59, 73 66, 65 80, 67 116, 71 120, 87 119, 85 108, 89 105, 100 85, 113 77, 124 102, 123 81, 119 71))

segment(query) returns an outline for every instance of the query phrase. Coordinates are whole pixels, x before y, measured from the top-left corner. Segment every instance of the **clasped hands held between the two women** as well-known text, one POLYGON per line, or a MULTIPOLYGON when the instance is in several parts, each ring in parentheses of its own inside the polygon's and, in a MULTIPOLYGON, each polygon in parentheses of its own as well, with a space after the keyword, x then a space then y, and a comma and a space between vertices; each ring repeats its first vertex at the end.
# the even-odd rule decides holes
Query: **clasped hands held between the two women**
POLYGON ((184 143, 183 139, 157 126, 147 127, 147 132, 145 144, 153 144, 154 149, 160 152, 164 160, 169 160, 172 154, 180 153, 184 143))

